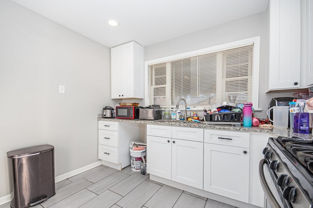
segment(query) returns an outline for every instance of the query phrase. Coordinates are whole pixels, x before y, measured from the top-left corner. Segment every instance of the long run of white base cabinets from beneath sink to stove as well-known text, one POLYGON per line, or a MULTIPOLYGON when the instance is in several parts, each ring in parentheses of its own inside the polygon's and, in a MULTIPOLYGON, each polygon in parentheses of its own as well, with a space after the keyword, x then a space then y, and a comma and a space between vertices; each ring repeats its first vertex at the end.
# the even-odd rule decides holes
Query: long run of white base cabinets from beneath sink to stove
POLYGON ((268 137, 147 125, 147 172, 152 180, 235 207, 264 207, 258 173, 268 137))

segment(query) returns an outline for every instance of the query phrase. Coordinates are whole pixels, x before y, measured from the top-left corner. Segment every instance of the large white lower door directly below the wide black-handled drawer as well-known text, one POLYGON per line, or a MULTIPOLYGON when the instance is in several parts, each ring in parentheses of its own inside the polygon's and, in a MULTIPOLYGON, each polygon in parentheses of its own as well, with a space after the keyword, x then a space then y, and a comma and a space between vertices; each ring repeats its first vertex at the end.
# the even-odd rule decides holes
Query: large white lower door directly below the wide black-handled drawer
POLYGON ((204 143, 203 174, 204 190, 248 203, 249 149, 204 143))

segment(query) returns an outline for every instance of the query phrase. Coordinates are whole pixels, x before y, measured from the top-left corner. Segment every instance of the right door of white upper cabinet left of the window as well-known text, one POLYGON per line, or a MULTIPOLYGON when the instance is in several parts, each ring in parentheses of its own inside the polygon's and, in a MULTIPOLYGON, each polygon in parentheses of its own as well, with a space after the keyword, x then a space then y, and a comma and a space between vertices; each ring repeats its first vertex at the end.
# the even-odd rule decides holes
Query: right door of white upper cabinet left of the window
POLYGON ((134 42, 129 42, 122 45, 121 76, 122 97, 134 98, 134 42))

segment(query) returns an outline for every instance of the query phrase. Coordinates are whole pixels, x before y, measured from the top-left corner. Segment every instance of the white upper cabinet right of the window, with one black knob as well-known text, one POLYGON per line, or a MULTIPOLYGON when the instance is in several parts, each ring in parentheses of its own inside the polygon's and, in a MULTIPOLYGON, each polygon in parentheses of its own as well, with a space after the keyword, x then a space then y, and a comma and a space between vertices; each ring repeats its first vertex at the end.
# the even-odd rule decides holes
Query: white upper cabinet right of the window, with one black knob
POLYGON ((301 88, 300 0, 270 0, 267 12, 269 90, 301 88))

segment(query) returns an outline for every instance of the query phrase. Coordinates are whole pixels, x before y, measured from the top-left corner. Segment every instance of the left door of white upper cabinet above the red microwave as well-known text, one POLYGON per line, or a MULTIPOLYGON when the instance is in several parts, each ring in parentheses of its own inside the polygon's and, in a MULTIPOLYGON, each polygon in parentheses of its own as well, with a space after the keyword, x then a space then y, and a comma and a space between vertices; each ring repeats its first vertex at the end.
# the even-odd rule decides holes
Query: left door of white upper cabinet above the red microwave
POLYGON ((111 98, 122 96, 122 46, 111 48, 111 98))

